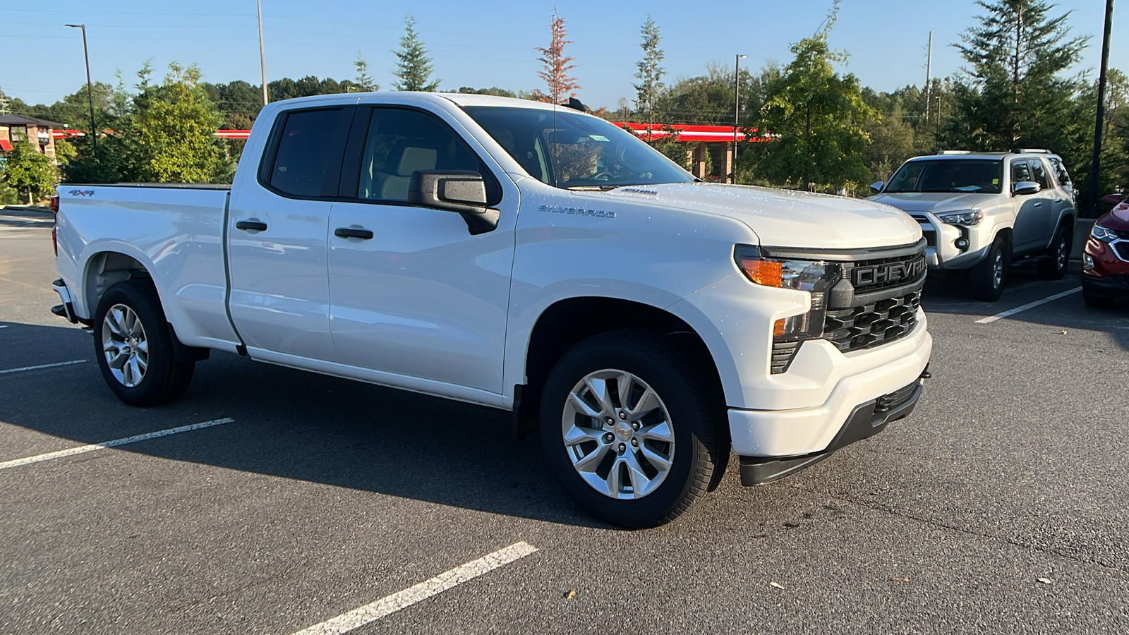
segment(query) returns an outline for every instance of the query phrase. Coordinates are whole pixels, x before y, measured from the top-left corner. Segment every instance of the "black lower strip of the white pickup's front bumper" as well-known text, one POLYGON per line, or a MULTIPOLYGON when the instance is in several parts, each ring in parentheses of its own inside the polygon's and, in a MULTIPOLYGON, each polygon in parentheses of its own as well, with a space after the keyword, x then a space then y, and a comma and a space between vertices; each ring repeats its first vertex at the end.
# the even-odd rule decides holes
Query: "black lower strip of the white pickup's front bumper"
POLYGON ((925 380, 929 377, 929 372, 922 371, 914 382, 856 406, 831 443, 819 452, 785 458, 739 456, 741 484, 752 486, 779 480, 819 463, 840 447, 878 434, 890 421, 904 419, 913 411, 925 390, 925 380))

